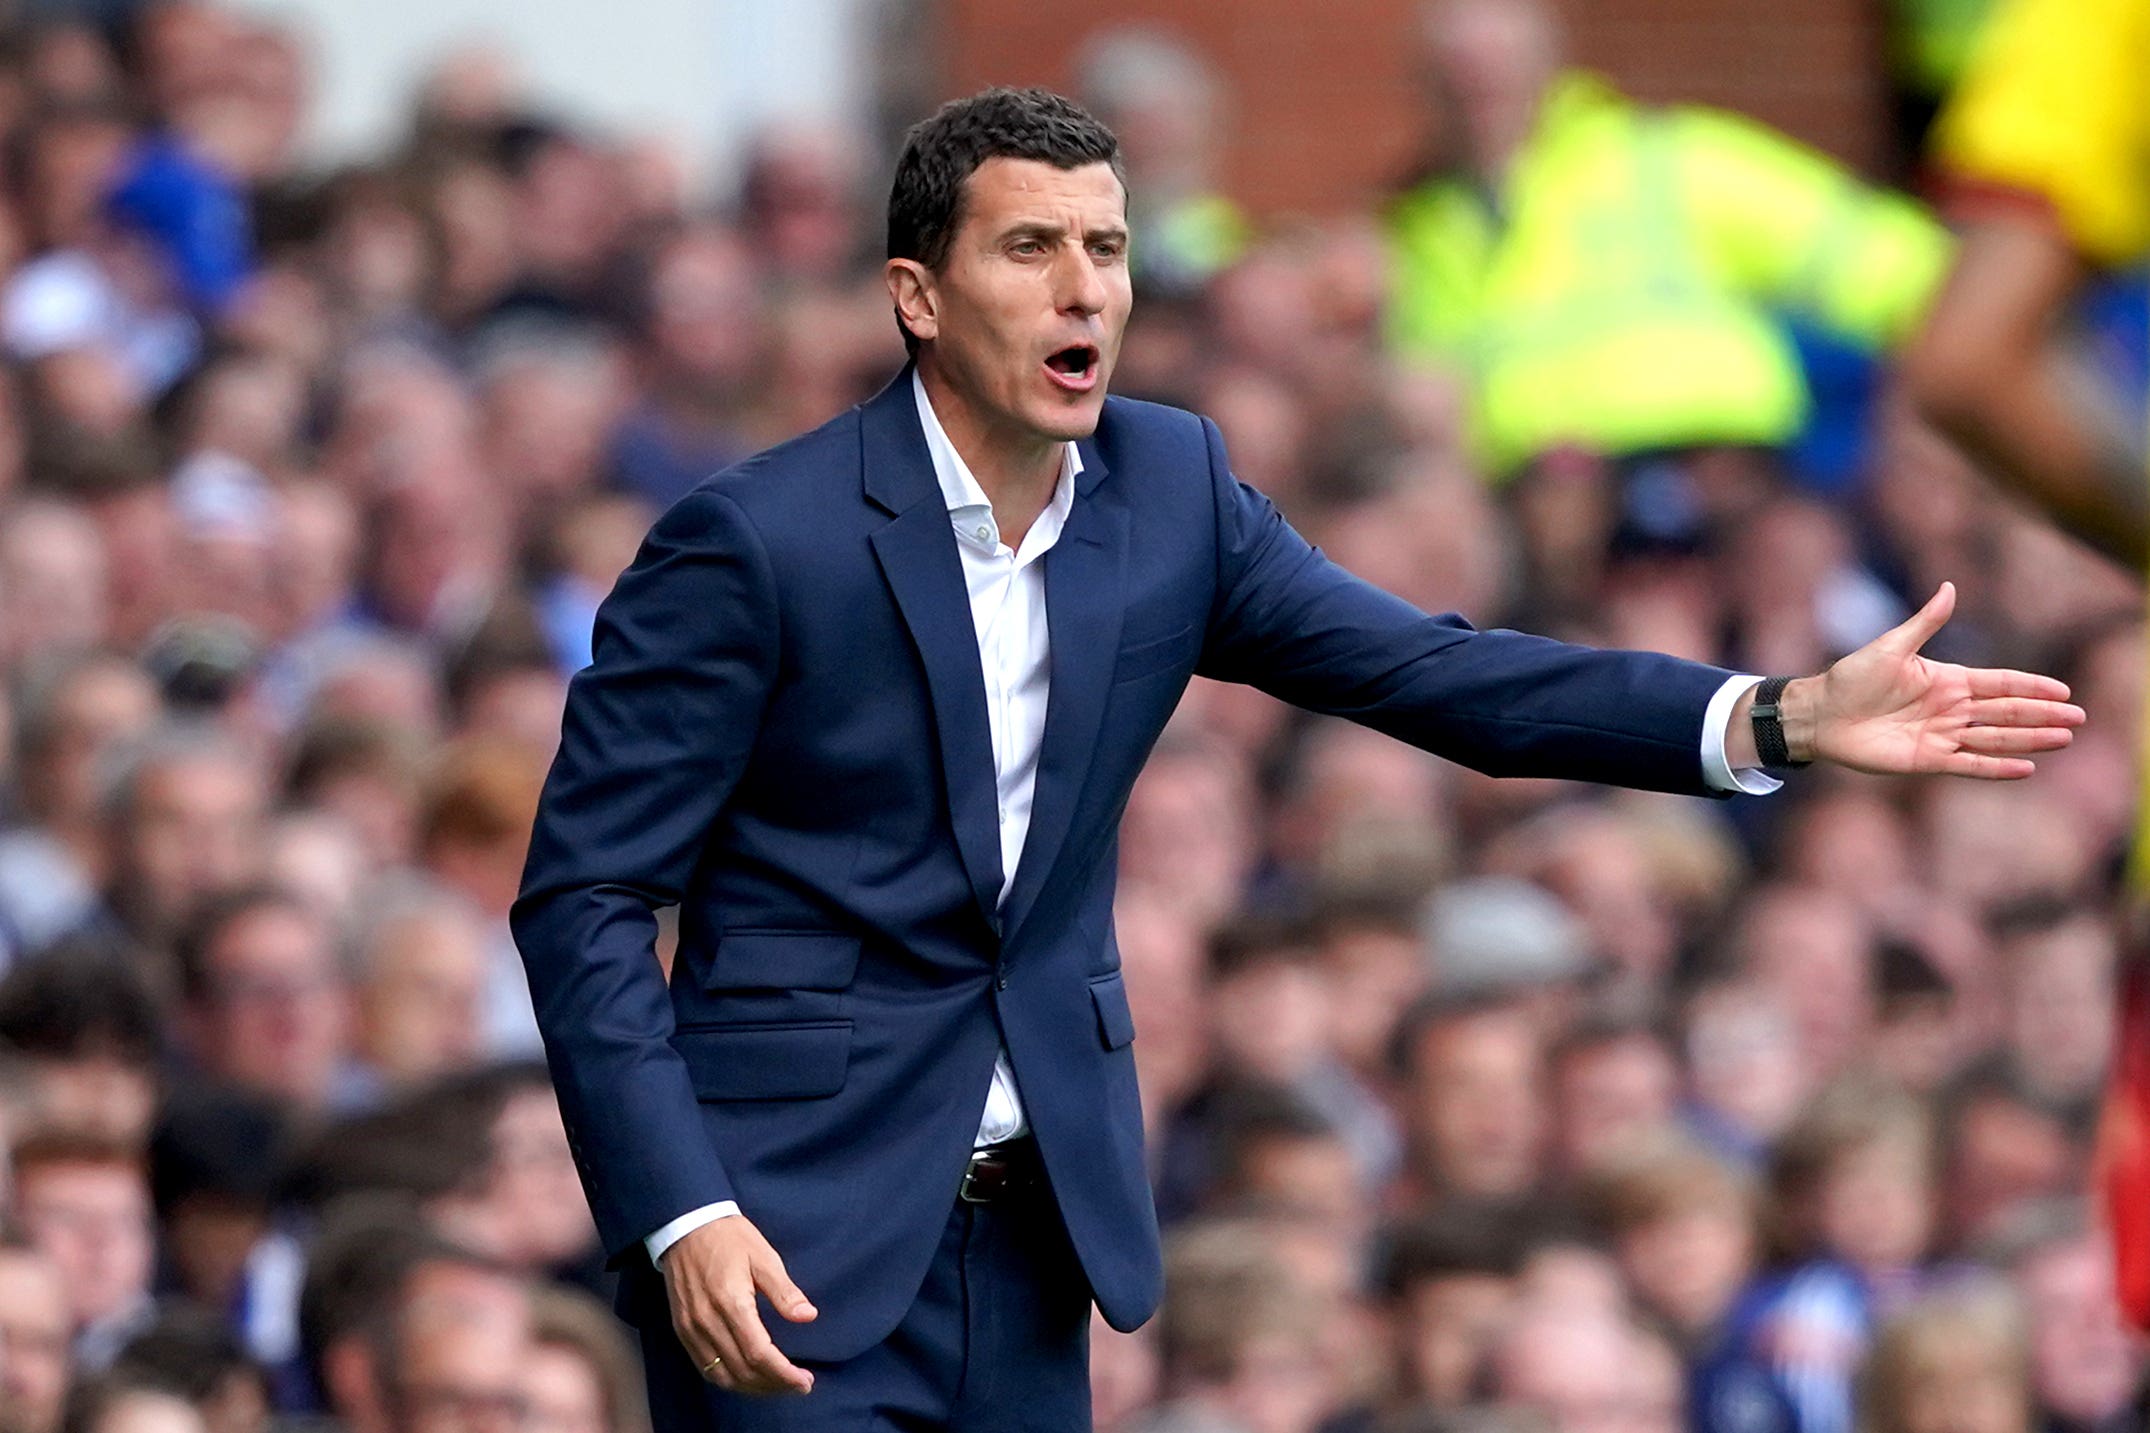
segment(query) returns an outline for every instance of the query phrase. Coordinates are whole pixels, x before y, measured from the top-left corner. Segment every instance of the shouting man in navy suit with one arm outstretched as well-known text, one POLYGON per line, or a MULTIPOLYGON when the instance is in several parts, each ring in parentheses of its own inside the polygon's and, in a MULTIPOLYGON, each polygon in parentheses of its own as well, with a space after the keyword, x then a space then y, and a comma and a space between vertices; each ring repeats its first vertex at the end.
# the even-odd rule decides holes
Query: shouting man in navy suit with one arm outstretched
POLYGON ((1765 758, 2023 776, 2081 720, 1918 657, 1946 587, 1757 700, 1354 580, 1213 423, 1105 397, 1124 215, 1112 133, 1056 95, 914 129, 914 365, 682 498, 598 617, 514 930, 658 1427, 1090 1427, 1090 1304, 1133 1328, 1161 1293, 1114 834, 1195 672, 1692 793, 1765 791, 1765 758))

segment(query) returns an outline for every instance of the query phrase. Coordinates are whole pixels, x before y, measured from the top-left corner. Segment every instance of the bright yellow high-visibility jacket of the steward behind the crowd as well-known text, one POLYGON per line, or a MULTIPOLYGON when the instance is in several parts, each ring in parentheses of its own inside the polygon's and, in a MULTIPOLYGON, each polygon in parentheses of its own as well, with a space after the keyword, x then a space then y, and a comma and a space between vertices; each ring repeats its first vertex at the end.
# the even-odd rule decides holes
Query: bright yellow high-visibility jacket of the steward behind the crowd
POLYGON ((1471 385, 1494 475, 1546 449, 1782 445, 1808 395, 1782 316, 1907 335, 1948 234, 1752 120, 1645 107, 1570 73, 1496 191, 1395 200, 1391 337, 1471 385))

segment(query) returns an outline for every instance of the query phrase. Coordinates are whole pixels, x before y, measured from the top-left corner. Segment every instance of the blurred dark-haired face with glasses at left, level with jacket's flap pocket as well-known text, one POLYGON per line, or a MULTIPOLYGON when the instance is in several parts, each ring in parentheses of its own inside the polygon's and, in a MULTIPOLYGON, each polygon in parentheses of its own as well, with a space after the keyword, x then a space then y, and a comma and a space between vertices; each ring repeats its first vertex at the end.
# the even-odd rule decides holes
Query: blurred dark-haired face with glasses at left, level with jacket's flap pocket
POLYGON ((327 926, 260 904, 209 943, 209 990, 191 1010, 196 1059, 213 1074, 318 1109, 342 1066, 348 1005, 327 926))

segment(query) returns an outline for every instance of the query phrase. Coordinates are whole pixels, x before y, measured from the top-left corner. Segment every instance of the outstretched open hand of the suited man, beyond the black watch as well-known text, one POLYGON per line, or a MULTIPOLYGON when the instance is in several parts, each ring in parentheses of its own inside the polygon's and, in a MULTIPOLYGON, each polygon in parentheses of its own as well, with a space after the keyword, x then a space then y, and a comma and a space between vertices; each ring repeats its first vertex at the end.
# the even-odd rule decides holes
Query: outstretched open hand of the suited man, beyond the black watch
POLYGON ((2030 776, 2038 752, 2068 746, 2083 709, 2068 703, 2066 683, 1918 655, 1954 610, 1956 589, 1941 582, 1903 625, 1793 681, 1782 698, 1791 754, 1853 771, 2006 782, 2030 776))

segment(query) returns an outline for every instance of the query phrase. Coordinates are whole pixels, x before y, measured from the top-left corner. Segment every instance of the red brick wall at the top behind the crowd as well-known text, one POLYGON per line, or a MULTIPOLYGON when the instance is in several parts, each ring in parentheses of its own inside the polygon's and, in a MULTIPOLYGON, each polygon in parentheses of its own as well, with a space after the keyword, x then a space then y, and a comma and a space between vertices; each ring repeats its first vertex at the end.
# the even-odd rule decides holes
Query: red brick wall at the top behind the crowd
MULTIPOLYGON (((1729 105, 1862 168, 1881 155, 1873 0, 1563 0, 1574 54, 1645 99, 1729 105)), ((1354 208, 1410 159, 1417 0, 935 0, 944 95, 1073 84, 1114 24, 1195 43, 1230 82, 1226 185, 1258 213, 1354 208)))

